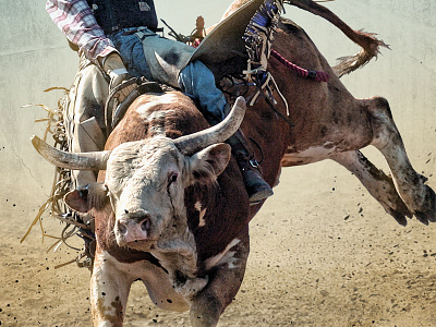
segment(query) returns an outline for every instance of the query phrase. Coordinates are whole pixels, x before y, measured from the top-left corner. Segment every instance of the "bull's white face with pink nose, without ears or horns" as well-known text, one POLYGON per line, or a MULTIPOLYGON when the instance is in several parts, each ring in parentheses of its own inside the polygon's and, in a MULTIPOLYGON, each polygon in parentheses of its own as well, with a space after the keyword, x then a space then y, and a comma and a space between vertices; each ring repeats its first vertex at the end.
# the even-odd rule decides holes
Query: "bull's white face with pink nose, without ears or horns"
POLYGON ((126 143, 112 152, 106 185, 119 245, 148 250, 173 217, 181 216, 185 166, 185 158, 167 138, 126 143))

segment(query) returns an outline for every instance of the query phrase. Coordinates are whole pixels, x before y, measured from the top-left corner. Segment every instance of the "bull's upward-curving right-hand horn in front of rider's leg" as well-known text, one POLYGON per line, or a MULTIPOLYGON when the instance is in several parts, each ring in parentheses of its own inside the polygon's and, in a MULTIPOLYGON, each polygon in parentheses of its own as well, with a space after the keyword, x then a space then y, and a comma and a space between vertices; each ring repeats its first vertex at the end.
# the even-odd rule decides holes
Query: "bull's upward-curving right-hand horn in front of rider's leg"
POLYGON ((238 131, 244 119, 245 110, 245 99, 238 97, 230 113, 219 124, 178 137, 174 140, 174 144, 183 154, 192 155, 209 145, 225 142, 238 131))

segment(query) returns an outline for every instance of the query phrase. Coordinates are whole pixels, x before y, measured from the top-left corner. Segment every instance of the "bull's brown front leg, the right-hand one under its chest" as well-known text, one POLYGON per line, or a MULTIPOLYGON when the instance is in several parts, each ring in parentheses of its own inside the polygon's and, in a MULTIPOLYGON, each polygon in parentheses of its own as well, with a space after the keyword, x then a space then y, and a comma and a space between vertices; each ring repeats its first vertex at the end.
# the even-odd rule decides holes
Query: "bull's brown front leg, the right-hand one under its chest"
POLYGON ((238 293, 249 257, 247 234, 245 238, 246 242, 233 240, 225 253, 208 261, 207 265, 213 265, 207 272, 209 282, 191 303, 192 326, 216 326, 219 316, 238 293))

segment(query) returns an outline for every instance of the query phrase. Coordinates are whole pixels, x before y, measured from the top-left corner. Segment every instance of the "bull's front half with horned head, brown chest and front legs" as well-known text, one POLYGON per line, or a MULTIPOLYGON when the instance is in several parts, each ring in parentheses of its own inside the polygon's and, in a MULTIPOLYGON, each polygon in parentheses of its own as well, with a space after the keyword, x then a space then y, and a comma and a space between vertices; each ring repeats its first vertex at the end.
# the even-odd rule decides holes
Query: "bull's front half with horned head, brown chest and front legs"
POLYGON ((101 183, 65 196, 70 207, 95 217, 95 325, 122 324, 137 279, 159 307, 191 306, 194 326, 218 320, 249 255, 247 194, 238 165, 228 165, 230 146, 219 143, 237 131, 244 112, 240 98, 222 123, 205 130, 192 100, 172 92, 138 98, 107 152, 61 153, 33 138, 55 165, 102 170, 101 183))

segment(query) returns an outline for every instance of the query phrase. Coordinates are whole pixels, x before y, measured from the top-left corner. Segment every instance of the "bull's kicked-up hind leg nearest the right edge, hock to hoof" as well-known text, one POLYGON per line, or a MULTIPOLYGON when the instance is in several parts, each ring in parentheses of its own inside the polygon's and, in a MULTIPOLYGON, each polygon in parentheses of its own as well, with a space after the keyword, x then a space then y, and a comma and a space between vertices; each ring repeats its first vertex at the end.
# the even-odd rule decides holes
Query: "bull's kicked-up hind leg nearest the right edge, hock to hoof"
POLYGON ((421 222, 427 225, 428 221, 436 221, 435 192, 425 185, 427 179, 419 174, 410 164, 388 101, 379 97, 363 101, 372 116, 372 145, 382 152, 388 162, 402 201, 421 222))

